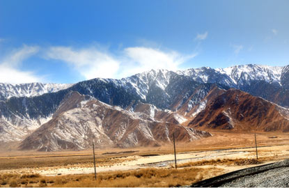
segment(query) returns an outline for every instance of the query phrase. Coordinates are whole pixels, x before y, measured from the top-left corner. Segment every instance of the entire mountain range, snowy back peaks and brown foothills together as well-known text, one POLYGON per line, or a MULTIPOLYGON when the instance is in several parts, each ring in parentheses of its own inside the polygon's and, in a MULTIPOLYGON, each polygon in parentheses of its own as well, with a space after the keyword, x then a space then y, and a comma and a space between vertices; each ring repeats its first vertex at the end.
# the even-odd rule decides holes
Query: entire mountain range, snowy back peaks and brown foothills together
POLYGON ((150 70, 77 84, 0 84, 0 141, 19 149, 160 146, 212 129, 289 128, 289 65, 150 70))

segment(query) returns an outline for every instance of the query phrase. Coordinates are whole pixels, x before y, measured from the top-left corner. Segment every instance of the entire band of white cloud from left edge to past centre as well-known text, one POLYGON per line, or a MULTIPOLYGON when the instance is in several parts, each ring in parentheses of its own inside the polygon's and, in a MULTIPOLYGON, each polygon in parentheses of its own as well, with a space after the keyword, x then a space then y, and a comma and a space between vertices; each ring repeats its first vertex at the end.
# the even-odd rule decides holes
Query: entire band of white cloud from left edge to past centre
POLYGON ((180 65, 197 54, 180 54, 156 47, 127 47, 111 53, 108 49, 93 45, 86 48, 37 47, 24 45, 0 59, 0 82, 11 84, 43 81, 32 71, 24 71, 22 63, 31 56, 42 54, 46 60, 66 63, 84 79, 129 77, 151 69, 180 70, 180 65))

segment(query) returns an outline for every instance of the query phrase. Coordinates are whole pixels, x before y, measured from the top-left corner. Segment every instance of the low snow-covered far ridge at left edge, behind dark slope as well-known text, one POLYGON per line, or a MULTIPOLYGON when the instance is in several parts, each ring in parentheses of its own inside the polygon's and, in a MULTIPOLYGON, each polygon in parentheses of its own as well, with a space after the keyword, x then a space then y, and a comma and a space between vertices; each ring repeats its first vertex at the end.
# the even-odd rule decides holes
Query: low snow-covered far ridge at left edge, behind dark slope
POLYGON ((31 97, 44 93, 53 93, 69 88, 73 84, 3 84, 0 83, 0 100, 7 100, 10 97, 31 97))

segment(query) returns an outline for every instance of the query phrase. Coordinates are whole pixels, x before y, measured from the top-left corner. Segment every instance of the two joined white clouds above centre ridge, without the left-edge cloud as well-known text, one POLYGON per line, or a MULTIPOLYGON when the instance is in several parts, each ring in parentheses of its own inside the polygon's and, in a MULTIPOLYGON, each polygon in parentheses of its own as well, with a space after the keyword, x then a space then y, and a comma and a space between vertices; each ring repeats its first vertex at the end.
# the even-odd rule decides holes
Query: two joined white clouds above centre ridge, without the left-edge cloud
POLYGON ((178 52, 163 52, 148 47, 128 47, 120 52, 120 56, 114 57, 95 48, 51 47, 46 56, 72 65, 86 79, 120 79, 151 69, 178 70, 179 65, 196 56, 183 56, 178 52))

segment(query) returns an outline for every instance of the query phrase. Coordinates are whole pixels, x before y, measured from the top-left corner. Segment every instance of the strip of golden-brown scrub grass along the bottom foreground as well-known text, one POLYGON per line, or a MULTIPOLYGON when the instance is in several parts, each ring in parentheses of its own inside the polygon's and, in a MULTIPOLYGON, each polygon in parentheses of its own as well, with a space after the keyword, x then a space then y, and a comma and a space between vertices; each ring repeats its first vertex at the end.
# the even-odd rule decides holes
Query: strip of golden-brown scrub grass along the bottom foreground
POLYGON ((175 187, 210 178, 221 169, 140 169, 97 174, 41 176, 39 174, 0 175, 1 187, 175 187), (181 177, 181 178, 180 178, 181 177))

